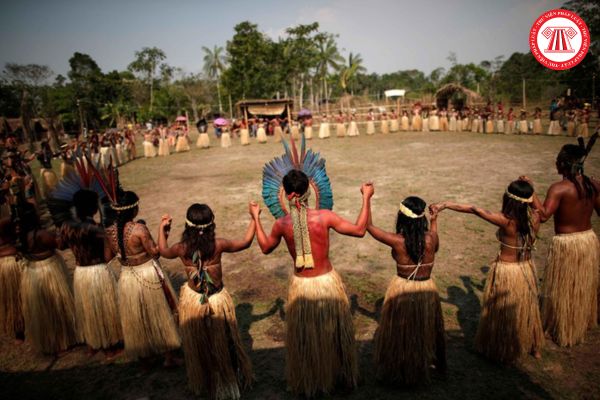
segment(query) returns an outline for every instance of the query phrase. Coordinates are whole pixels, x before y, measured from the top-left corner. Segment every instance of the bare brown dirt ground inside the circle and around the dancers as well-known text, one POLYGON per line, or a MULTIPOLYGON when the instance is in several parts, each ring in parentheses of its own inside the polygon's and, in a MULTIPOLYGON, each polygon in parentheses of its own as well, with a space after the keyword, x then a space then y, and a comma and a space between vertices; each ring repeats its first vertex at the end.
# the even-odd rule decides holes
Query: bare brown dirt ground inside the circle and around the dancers
MULTIPOLYGON (((155 233, 164 213, 173 216, 172 240, 178 238, 185 210, 193 202, 209 204, 220 236, 240 237, 250 218, 247 203, 260 200, 262 166, 280 155, 282 146, 255 141, 242 147, 234 139, 229 149, 139 159, 123 166, 122 184, 141 198, 140 217, 155 233)), ((428 203, 450 199, 498 210, 508 183, 529 175, 539 193, 559 178, 554 160, 560 147, 573 138, 505 136, 472 133, 395 133, 372 137, 313 140, 310 146, 327 160, 334 192, 334 210, 355 219, 361 204, 361 182, 373 181, 373 219, 393 230, 397 204, 418 195, 428 203)), ((141 151, 141 148, 140 148, 141 151)), ((141 153, 140 153, 141 154, 141 153)), ((600 149, 586 163, 589 175, 600 176, 600 149)), ((263 224, 273 218, 263 210, 263 224)), ((595 217, 594 229, 600 232, 595 217)), ((490 261, 498 251, 495 230, 474 216, 444 212, 440 217, 441 248, 434 279, 443 298, 448 341, 448 372, 417 389, 379 385, 372 368, 372 338, 394 263, 386 246, 332 233, 331 259, 351 296, 360 347, 361 382, 351 394, 332 398, 396 399, 592 399, 600 398, 600 329, 571 349, 547 341, 541 360, 522 359, 514 367, 490 363, 477 355, 473 340, 480 300, 490 261)), ((545 224, 535 253, 539 276, 552 237, 545 224)), ((65 254, 69 258, 69 254, 65 254)), ((176 261, 163 261, 175 286, 183 281, 176 261)), ((248 399, 293 398, 284 380, 284 308, 291 260, 283 246, 264 256, 256 243, 223 258, 224 280, 234 296, 242 338, 254 364, 256 383, 248 399)), ((0 339, 0 398, 2 399, 187 399, 185 368, 166 370, 157 361, 150 371, 123 356, 114 362, 76 347, 58 358, 33 354, 30 346, 0 339)))

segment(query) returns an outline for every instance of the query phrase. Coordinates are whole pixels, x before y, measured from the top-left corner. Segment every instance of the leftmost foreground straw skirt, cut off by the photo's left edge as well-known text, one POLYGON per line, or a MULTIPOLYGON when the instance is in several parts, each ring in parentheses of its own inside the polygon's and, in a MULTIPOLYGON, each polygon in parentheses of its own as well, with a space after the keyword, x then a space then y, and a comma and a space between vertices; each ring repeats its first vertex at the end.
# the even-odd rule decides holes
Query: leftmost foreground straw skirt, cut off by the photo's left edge
POLYGON ((23 266, 15 256, 0 257, 0 332, 11 338, 23 334, 21 276, 23 266))

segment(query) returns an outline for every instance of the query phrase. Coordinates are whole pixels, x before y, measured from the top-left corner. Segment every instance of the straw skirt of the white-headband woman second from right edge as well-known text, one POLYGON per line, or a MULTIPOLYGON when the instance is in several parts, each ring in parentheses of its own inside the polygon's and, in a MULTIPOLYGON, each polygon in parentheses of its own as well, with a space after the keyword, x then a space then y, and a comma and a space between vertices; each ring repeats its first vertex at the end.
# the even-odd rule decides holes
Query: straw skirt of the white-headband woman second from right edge
POLYGON ((496 261, 491 267, 475 348, 493 361, 508 364, 544 345, 535 265, 496 261))

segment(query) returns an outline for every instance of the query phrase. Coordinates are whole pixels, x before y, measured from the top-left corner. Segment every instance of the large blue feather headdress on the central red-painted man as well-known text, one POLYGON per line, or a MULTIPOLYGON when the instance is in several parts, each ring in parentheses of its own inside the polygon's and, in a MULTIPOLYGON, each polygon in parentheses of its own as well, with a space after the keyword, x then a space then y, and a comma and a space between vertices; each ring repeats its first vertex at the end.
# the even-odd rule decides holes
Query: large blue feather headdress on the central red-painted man
POLYGON ((289 145, 284 139, 283 148, 285 154, 275 157, 263 168, 262 195, 271 214, 275 218, 281 218, 288 212, 282 182, 283 177, 292 169, 298 169, 308 176, 310 186, 315 192, 316 208, 333 209, 333 192, 325 170, 325 159, 311 149, 306 150, 304 134, 301 138, 300 153, 293 139, 290 139, 289 145))

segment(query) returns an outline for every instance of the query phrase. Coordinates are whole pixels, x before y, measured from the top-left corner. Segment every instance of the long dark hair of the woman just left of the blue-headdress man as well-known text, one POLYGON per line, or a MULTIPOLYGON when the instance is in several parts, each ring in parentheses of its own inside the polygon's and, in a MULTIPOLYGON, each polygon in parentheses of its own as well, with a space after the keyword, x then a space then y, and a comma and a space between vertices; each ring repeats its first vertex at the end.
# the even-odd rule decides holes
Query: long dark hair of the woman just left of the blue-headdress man
POLYGON ((192 260, 196 251, 200 252, 200 260, 210 260, 215 254, 214 214, 206 204, 192 204, 186 213, 187 221, 193 225, 207 225, 204 228, 190 225, 187 221, 181 235, 181 243, 185 246, 185 257, 192 260))

